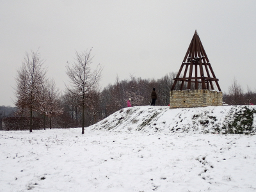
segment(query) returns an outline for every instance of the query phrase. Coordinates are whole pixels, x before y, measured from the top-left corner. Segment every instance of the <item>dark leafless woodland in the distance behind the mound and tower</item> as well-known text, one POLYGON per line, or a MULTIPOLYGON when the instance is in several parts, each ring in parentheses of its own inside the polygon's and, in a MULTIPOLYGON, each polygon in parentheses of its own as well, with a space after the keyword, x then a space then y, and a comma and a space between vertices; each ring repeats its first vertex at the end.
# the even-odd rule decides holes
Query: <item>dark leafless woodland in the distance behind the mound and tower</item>
MULTIPOLYGON (((86 95, 85 126, 99 122, 116 111, 127 107, 127 100, 131 98, 132 106, 150 105, 150 93, 156 88, 157 106, 168 106, 170 103, 170 88, 173 84, 175 73, 171 72, 161 79, 141 79, 131 76, 130 79, 120 81, 116 77, 113 84, 103 90, 94 90, 86 95)), ((177 84, 179 86, 179 84, 177 84)), ((256 91, 247 88, 246 92, 236 79, 228 88, 228 93, 223 93, 223 102, 229 105, 256 104, 256 91)), ((59 100, 63 113, 52 118, 52 127, 68 128, 81 127, 81 105, 74 94, 66 92, 59 100)), ((17 108, 0 106, 0 119, 13 116, 17 108)), ((43 118, 42 114, 33 112, 34 117, 43 118)), ((46 127, 49 127, 49 118, 46 117, 46 127)), ((1 124, 0 124, 1 125, 1 124)))

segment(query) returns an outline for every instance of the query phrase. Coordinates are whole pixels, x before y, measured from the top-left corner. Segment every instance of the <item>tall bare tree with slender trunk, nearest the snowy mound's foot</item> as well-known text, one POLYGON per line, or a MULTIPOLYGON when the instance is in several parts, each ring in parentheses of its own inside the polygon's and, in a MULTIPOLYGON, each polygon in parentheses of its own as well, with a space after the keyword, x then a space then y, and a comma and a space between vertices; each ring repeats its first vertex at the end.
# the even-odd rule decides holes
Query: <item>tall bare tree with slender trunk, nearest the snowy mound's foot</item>
POLYGON ((90 51, 77 52, 76 59, 72 66, 67 65, 67 75, 70 78, 73 88, 68 88, 68 91, 79 95, 79 104, 82 107, 82 134, 84 134, 84 107, 86 106, 86 93, 94 90, 99 85, 100 74, 102 67, 97 65, 95 70, 92 70, 91 64, 93 57, 90 51))

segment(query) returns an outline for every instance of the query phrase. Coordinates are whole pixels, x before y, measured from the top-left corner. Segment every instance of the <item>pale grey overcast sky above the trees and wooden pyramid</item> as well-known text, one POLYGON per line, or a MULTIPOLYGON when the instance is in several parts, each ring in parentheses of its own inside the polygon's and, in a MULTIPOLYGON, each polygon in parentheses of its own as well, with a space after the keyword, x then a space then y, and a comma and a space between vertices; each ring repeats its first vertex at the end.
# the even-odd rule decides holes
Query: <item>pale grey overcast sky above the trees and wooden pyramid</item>
POLYGON ((39 48, 47 76, 64 90, 67 61, 93 47, 104 88, 117 75, 177 72, 195 30, 223 92, 234 77, 256 90, 256 1, 3 0, 0 26, 0 106, 14 106, 17 69, 31 50, 39 48))

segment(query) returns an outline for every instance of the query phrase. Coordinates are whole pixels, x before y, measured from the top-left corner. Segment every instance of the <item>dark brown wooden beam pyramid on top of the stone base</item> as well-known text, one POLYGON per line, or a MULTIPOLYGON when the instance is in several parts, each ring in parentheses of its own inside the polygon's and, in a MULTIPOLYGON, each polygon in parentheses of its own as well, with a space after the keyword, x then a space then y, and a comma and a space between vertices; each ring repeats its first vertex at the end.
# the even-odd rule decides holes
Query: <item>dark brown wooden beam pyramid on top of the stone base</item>
POLYGON ((178 81, 180 82, 179 90, 214 90, 215 83, 218 90, 221 92, 218 84, 219 79, 216 79, 216 76, 214 75, 211 63, 207 58, 207 54, 196 31, 188 47, 188 51, 181 64, 177 77, 174 78, 171 90, 175 89, 178 81), (181 73, 183 69, 184 73, 182 76, 181 73))

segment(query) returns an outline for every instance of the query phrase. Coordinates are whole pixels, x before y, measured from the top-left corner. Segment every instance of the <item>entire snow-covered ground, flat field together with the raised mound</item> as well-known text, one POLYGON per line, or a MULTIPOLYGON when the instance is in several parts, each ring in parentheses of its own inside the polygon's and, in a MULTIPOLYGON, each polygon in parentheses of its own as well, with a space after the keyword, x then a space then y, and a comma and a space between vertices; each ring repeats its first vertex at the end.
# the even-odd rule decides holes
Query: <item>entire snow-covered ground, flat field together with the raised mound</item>
POLYGON ((0 131, 0 190, 256 191, 255 112, 143 106, 83 135, 81 128, 0 131), (244 134, 226 134, 233 131, 244 134))

